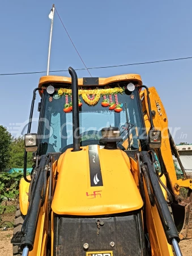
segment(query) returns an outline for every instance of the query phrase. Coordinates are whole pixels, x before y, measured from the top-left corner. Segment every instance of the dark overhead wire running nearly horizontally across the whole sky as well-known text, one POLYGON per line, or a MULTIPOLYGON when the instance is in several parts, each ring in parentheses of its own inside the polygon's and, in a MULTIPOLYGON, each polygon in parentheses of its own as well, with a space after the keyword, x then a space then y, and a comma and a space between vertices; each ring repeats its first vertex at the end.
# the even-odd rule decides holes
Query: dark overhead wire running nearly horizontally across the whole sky
MULTIPOLYGON (((122 64, 122 65, 112 65, 112 66, 101 66, 101 67, 91 67, 91 68, 76 68, 75 71, 82 71, 87 69, 102 69, 102 68, 117 68, 117 67, 125 67, 125 66, 132 66, 132 65, 144 65, 144 64, 152 64, 152 63, 160 63, 165 61, 177 61, 177 60, 186 60, 192 59, 192 57, 183 57, 177 59, 168 59, 168 60, 155 60, 155 61, 147 61, 147 62, 139 62, 139 63, 129 63, 129 64, 122 64)), ((50 73, 54 72, 68 72, 66 70, 53 70, 49 71, 50 73)), ((20 72, 20 73, 0 73, 0 76, 12 76, 12 75, 30 75, 30 74, 38 74, 38 73, 46 73, 46 71, 36 71, 36 72, 20 72)))

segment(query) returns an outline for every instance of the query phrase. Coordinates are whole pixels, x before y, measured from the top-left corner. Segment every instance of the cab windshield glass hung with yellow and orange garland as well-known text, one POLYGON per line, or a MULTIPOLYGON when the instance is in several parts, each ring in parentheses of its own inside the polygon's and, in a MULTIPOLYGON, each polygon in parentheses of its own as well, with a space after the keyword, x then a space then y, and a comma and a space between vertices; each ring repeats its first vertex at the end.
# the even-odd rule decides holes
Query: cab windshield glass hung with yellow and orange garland
MULTIPOLYGON (((86 87, 79 90, 81 145, 99 144, 101 129, 110 126, 119 127, 123 142, 118 143, 118 146, 122 146, 123 150, 139 149, 146 143, 137 89, 129 92, 123 85, 118 85, 120 89, 116 92, 116 88, 117 84, 108 86, 107 89, 114 89, 111 91, 106 88, 97 89, 102 90, 102 94, 88 94, 93 91, 88 91, 90 88, 86 87)), ((44 121, 41 130, 44 154, 63 152, 72 147, 71 94, 68 91, 66 93, 65 88, 62 90, 57 90, 52 97, 46 90, 44 92, 44 121)))

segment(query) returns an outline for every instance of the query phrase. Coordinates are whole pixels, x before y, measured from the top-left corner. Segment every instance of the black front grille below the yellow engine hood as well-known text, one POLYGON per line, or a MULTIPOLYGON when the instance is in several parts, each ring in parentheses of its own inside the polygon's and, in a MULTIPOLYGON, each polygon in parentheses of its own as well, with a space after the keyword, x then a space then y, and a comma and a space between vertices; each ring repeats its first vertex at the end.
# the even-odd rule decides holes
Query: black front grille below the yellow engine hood
POLYGON ((54 217, 54 256, 85 256, 87 251, 113 251, 113 256, 144 254, 140 214, 109 218, 54 217), (99 234, 97 220, 100 221, 99 234), (110 246, 114 242, 114 247, 110 246))

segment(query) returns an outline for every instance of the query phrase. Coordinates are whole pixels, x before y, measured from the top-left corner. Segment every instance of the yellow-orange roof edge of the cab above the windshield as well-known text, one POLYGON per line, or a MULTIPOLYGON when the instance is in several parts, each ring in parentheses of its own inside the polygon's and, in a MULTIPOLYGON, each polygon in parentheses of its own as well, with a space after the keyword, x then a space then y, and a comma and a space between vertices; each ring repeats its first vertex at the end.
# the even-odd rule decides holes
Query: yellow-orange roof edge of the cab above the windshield
MULTIPOLYGON (((129 80, 138 81, 138 84, 142 85, 142 79, 141 79, 140 75, 137 75, 137 74, 125 74, 125 75, 118 75, 118 76, 111 76, 111 77, 99 77, 98 85, 107 85, 112 82, 129 81, 129 80)), ((83 81, 84 81, 83 78, 79 78, 78 85, 85 86, 83 81)), ((51 83, 71 84, 71 77, 42 76, 39 81, 39 88, 41 88, 44 84, 51 84, 51 83)))

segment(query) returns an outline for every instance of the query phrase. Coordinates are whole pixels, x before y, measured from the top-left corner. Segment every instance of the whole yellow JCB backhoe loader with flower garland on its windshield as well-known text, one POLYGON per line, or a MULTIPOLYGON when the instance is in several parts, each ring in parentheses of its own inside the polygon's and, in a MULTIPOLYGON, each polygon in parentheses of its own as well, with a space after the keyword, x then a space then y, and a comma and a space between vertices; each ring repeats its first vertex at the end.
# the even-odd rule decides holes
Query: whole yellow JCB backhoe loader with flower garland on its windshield
POLYGON ((78 79, 71 67, 69 73, 41 77, 33 92, 14 256, 182 255, 178 243, 191 237, 192 180, 156 89, 139 75, 78 79))

